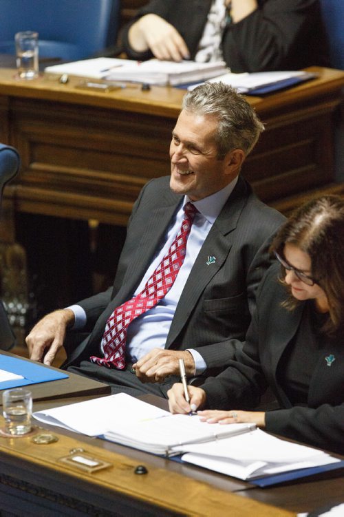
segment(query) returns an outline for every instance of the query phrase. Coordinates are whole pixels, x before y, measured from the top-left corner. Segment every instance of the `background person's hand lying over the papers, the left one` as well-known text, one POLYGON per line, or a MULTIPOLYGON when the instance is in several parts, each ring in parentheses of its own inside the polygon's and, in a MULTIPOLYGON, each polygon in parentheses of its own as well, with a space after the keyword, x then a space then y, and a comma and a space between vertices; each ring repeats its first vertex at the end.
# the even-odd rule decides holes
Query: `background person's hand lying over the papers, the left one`
POLYGON ((129 44, 136 52, 151 50, 161 60, 189 59, 189 49, 171 23, 156 14, 145 14, 129 29, 129 44))

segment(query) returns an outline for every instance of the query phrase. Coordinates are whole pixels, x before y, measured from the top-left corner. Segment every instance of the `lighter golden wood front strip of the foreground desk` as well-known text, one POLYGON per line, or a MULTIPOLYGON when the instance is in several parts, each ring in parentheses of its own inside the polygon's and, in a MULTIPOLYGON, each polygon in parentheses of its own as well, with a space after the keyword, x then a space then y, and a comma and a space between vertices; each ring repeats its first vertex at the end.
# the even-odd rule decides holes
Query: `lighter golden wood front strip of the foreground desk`
MULTIPOLYGON (((2 418, 0 425, 3 425, 2 418)), ((23 467, 24 463, 28 469, 34 472, 39 469, 40 472, 45 472, 45 476, 56 479, 56 487, 59 488, 61 485, 57 484, 56 476, 67 476, 78 480, 78 485, 82 483, 85 490, 90 490, 92 486, 91 490, 95 492, 97 489, 103 489, 109 492, 109 496, 119 494, 121 497, 141 500, 149 505, 189 516, 219 515, 229 511, 233 517, 294 515, 290 511, 230 494, 207 483, 186 478, 148 463, 148 474, 138 476, 134 473, 137 461, 115 452, 101 450, 93 445, 87 445, 87 453, 112 463, 112 466, 89 474, 59 461, 59 458, 69 454, 70 450, 80 446, 85 447, 85 444, 74 437, 57 432, 53 434, 58 436, 58 442, 43 446, 32 443, 31 436, 22 439, 0 437, 0 457, 3 465, 10 465, 12 462, 12 465, 14 463, 23 467)), ((65 479, 65 483, 70 487, 71 481, 65 479)))

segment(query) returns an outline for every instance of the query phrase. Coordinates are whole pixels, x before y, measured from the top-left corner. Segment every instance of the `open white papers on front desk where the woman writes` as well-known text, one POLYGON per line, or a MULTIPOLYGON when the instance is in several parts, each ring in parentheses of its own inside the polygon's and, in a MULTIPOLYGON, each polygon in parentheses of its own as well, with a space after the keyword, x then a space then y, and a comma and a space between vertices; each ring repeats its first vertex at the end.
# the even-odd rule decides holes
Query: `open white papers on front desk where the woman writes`
POLYGON ((254 424, 210 424, 125 393, 43 410, 34 417, 154 454, 184 453, 183 461, 241 479, 341 465, 325 452, 270 436, 254 424))

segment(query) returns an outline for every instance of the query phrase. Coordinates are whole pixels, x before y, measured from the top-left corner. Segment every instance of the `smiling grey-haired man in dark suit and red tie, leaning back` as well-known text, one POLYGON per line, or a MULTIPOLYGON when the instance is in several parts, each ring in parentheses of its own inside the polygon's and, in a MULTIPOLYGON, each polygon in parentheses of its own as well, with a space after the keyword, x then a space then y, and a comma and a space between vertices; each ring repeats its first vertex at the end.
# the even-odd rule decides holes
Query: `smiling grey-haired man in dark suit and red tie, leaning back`
POLYGON ((39 321, 27 337, 31 359, 51 364, 66 328, 74 327, 86 334, 67 350, 65 368, 105 381, 114 392, 166 396, 179 359, 189 377, 222 370, 235 351, 229 339, 244 338, 270 238, 283 222, 239 177, 263 129, 247 101, 224 84, 186 94, 172 132, 171 177, 142 189, 114 286, 39 321), (122 304, 125 315, 135 312, 142 292, 156 284, 190 203, 197 210, 178 274, 149 310, 129 324, 119 321, 122 304), (116 347, 125 353, 116 352, 115 360, 116 347))

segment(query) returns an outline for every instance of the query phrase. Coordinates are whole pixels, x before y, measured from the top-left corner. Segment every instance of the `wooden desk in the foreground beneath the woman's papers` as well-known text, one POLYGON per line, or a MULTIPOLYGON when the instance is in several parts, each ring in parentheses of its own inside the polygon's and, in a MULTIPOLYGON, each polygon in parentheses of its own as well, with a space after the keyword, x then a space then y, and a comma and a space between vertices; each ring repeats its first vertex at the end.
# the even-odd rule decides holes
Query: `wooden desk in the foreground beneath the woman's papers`
POLYGON ((115 443, 45 428, 58 436, 58 442, 34 445, 31 436, 0 437, 0 509, 11 508, 20 516, 25 506, 25 515, 29 516, 43 514, 44 508, 47 516, 284 517, 344 498, 343 477, 259 489, 115 443), (112 466, 89 474, 59 461, 80 447, 112 466), (148 474, 135 474, 137 465, 147 467, 148 474))

